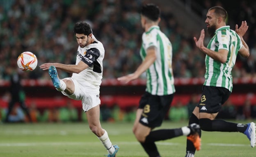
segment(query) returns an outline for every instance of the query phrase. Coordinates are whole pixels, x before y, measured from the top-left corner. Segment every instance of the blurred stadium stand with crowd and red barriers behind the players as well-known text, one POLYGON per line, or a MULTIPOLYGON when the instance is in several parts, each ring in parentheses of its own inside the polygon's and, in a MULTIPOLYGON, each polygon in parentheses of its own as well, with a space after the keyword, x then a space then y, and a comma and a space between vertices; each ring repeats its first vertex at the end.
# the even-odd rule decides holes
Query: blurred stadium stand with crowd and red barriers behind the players
MULTIPOLYGON (((0 94, 5 95, 9 86, 8 67, 16 67, 16 60, 23 51, 37 55, 38 65, 45 62, 73 64, 77 43, 72 33, 73 24, 78 20, 87 20, 94 34, 105 46, 105 61, 101 91, 102 103, 108 106, 133 106, 139 101, 139 94, 144 90, 144 75, 127 86, 119 84, 115 78, 131 73, 140 64, 139 47, 141 33, 139 6, 144 2, 155 2, 162 10, 161 28, 168 35, 173 45, 173 69, 177 94, 174 102, 182 100, 186 104, 192 93, 200 93, 204 76, 204 55, 195 46, 192 37, 199 32, 187 34, 187 26, 182 25, 177 13, 162 0, 3 0, 0 5, 0 94), (86 7, 85 7, 86 6, 86 7), (84 9, 86 8, 86 9, 84 9), (17 22, 18 21, 18 22, 17 22), (120 88, 124 93, 120 94, 120 88), (136 92, 134 92, 136 91, 136 92), (130 92, 130 93, 129 93, 130 92), (113 95, 107 95, 112 93, 113 95)), ((179 2, 188 13, 204 21, 205 11, 213 5, 225 7, 229 15, 227 21, 231 28, 247 20, 249 31, 245 35, 251 51, 248 60, 238 57, 233 69, 234 92, 233 104, 241 106, 250 95, 256 104, 256 44, 255 44, 255 1, 235 1, 227 4, 217 0, 174 0, 179 2), (229 6, 227 6, 229 5, 229 6), (233 6, 232 6, 233 5, 233 6), (239 7, 239 8, 238 8, 239 7), (233 9, 235 8, 235 9, 233 9), (253 93, 253 94, 251 94, 253 93)), ((176 3, 177 4, 177 3, 176 3)), ((183 16, 186 14, 183 14, 183 16)), ((184 18, 185 19, 185 18, 184 18)), ((183 22, 184 23, 184 22, 183 22)), ((201 27, 201 24, 200 24, 201 27)), ((43 91, 52 92, 47 73, 37 68, 32 72, 22 72, 23 84, 27 92, 27 104, 35 101, 38 108, 62 106, 66 98, 43 96, 43 91), (32 94, 30 94, 32 93, 32 94)), ((70 74, 60 72, 60 77, 70 74)), ((73 102, 76 107, 80 102, 73 102)), ((7 106, 5 97, 0 97, 0 107, 7 106)))

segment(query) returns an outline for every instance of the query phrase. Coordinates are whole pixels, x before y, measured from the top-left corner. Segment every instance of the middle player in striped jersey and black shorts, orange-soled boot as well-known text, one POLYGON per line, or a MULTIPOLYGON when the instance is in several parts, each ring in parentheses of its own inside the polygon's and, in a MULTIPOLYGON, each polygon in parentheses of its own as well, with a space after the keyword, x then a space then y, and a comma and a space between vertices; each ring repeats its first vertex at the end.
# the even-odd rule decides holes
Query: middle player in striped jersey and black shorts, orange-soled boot
POLYGON ((147 75, 146 92, 142 96, 136 113, 133 133, 149 157, 160 157, 156 141, 186 135, 200 149, 201 139, 197 131, 199 125, 191 124, 182 128, 159 129, 171 105, 175 88, 171 68, 172 46, 169 39, 160 31, 160 9, 154 4, 146 4, 141 10, 141 24, 144 28, 140 54, 142 64, 137 70, 118 80, 128 83, 137 79, 144 71, 147 75))

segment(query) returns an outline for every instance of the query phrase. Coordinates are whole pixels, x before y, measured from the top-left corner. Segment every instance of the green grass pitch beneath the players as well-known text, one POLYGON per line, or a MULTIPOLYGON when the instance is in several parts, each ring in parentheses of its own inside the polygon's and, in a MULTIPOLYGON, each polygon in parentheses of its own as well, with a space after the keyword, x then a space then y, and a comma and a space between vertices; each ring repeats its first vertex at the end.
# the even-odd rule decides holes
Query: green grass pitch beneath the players
MULTIPOLYGON (((242 122, 242 123, 247 123, 242 122)), ((161 128, 186 126, 165 121, 161 128)), ((147 157, 132 133, 133 123, 102 123, 117 157, 147 157)), ((158 129, 158 128, 156 128, 158 129)), ((184 157, 185 136, 156 142, 161 157, 184 157)), ((104 157, 107 151, 87 123, 0 124, 0 157, 104 157)), ((196 157, 256 157, 242 133, 202 132, 196 157)))

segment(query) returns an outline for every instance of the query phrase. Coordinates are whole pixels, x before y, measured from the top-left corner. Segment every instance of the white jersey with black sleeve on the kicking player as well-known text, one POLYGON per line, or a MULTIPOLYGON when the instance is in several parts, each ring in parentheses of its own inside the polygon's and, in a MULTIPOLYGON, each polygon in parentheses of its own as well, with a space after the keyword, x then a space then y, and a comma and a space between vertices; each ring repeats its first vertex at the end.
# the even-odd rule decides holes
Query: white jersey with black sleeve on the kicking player
POLYGON ((77 65, 80 61, 85 62, 89 67, 80 73, 73 73, 72 78, 75 78, 78 82, 89 82, 94 85, 101 85, 101 79, 103 74, 103 58, 105 50, 103 44, 99 42, 94 35, 92 38, 95 40, 92 44, 81 48, 78 46, 76 62, 77 65))

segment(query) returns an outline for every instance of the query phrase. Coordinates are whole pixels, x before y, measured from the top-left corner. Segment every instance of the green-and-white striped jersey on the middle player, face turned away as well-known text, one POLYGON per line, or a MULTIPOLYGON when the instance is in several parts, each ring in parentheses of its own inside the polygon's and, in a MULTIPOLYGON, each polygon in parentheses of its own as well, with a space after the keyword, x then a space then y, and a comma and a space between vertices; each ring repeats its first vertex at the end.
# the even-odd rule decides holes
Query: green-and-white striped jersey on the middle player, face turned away
POLYGON ((169 39, 158 26, 152 26, 142 35, 140 55, 146 57, 146 50, 156 47, 156 60, 146 70, 146 91, 152 95, 169 95, 175 92, 172 72, 172 46, 169 39))

